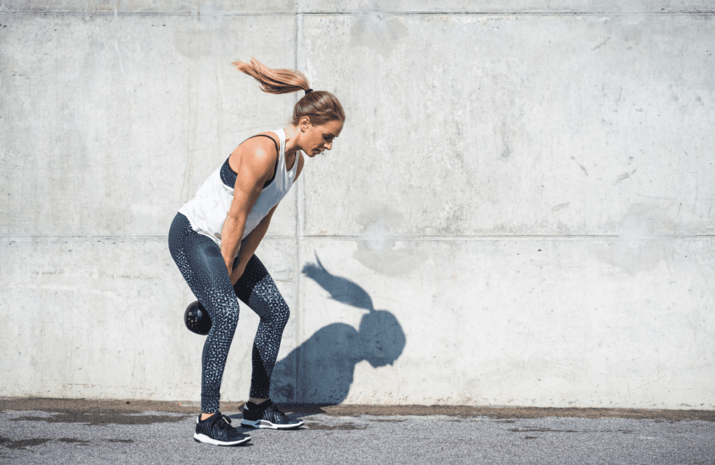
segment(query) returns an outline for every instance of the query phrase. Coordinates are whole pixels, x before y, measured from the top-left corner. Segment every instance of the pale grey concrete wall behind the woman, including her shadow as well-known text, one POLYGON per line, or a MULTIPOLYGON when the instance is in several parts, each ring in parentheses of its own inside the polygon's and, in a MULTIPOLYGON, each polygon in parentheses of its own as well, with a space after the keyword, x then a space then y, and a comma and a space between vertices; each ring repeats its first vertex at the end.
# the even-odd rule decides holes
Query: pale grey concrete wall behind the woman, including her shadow
POLYGON ((198 400, 166 235, 289 118, 254 54, 348 117, 258 251, 276 400, 715 408, 714 2, 378 3, 2 2, 0 396, 198 400))

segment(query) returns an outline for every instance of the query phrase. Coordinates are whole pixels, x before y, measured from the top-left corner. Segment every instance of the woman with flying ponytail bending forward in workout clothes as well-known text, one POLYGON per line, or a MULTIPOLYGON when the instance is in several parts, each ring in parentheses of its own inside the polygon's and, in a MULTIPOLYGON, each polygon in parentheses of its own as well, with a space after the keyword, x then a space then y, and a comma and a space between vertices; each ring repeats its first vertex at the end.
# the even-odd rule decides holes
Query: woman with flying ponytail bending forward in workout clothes
POLYGON ((217 446, 250 440, 219 411, 221 378, 238 323, 237 298, 260 316, 253 342, 250 398, 241 425, 272 429, 302 425, 270 401, 270 377, 290 312, 254 252, 278 202, 300 176, 303 154, 312 158, 330 150, 345 122, 337 98, 330 92, 314 92, 303 74, 271 69, 255 59, 233 64, 254 77, 264 92, 302 90, 305 95, 295 104, 289 127, 242 142, 196 196, 179 208, 169 230, 172 258, 212 320, 202 356, 202 413, 194 439, 217 446))

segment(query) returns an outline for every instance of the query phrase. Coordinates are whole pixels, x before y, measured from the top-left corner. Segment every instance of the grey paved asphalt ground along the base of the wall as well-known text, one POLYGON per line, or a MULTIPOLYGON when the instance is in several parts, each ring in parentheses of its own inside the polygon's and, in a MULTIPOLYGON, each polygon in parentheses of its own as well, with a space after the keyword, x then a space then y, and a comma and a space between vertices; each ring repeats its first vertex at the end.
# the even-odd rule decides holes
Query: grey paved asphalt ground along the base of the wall
MULTIPOLYGON (((193 441, 194 404, 0 399, 0 465, 715 465, 714 411, 285 407, 305 426, 223 448, 193 441)), ((222 408, 240 424, 241 404, 222 408)))

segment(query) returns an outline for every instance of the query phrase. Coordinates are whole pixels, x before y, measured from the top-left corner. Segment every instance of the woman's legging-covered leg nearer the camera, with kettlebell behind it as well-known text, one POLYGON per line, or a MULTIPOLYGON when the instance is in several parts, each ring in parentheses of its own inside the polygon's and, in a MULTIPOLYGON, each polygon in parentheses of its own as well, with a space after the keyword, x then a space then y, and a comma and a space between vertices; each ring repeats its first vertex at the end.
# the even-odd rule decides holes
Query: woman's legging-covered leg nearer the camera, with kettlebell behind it
POLYGON ((169 252, 192 293, 211 317, 202 356, 201 411, 219 411, 221 379, 238 323, 238 301, 221 250, 196 233, 180 213, 169 230, 169 252))

